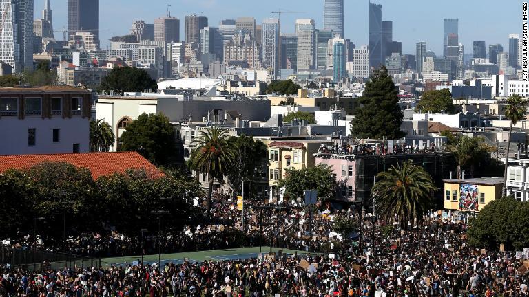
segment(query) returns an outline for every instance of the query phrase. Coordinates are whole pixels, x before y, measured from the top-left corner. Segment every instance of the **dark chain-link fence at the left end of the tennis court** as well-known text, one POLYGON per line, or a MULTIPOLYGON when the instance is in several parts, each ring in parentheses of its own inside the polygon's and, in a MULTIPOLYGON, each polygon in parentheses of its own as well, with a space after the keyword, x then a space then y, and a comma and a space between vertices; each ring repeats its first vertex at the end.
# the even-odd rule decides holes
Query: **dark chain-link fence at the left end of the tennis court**
POLYGON ((28 270, 57 270, 65 267, 99 267, 101 259, 4 245, 0 246, 0 264, 28 270))

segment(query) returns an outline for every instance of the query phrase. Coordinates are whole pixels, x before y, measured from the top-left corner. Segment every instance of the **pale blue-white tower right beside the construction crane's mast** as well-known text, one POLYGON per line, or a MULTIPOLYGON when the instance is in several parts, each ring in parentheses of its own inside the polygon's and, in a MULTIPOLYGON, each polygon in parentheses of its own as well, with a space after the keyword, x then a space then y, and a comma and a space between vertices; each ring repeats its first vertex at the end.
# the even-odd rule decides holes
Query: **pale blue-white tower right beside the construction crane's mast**
POLYGON ((264 19, 262 22, 262 63, 264 67, 272 70, 273 77, 278 75, 279 69, 279 20, 264 19))

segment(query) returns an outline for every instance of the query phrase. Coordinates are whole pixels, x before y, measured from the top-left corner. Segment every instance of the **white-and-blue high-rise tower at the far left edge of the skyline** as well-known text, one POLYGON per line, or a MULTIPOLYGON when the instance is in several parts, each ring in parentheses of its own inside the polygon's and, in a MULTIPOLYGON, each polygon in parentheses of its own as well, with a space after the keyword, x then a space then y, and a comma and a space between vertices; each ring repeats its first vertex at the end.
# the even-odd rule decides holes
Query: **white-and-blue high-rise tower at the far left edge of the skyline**
POLYGON ((33 0, 0 0, 0 61, 33 69, 33 0))

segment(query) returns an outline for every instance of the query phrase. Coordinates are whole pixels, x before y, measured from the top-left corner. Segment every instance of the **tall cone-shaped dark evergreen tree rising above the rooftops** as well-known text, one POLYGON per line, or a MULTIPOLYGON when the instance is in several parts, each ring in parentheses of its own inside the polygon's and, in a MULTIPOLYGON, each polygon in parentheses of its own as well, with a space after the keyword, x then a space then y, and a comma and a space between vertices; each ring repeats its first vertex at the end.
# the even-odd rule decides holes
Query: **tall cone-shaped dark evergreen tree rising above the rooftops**
POLYGON ((359 99, 351 134, 356 138, 400 139, 405 133, 400 131, 404 115, 398 107, 398 90, 382 66, 366 83, 363 96, 359 99))

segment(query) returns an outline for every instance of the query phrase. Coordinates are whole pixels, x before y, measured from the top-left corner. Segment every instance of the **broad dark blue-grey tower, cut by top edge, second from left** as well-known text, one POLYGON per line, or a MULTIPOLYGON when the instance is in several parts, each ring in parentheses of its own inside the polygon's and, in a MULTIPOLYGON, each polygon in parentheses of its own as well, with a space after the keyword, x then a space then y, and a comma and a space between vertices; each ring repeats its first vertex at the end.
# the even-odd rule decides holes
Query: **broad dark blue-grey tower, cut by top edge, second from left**
POLYGON ((99 45, 99 0, 68 0, 68 31, 91 32, 99 45))

